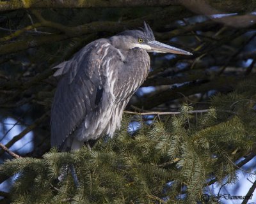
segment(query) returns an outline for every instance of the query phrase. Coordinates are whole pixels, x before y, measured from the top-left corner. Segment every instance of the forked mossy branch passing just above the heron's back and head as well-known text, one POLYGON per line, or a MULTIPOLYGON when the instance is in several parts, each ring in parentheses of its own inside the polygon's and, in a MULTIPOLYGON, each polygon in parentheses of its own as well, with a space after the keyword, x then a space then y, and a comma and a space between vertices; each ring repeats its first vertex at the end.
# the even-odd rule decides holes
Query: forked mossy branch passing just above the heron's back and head
MULTIPOLYGON (((0 2, 1 3, 1 2, 0 2)), ((1 6, 0 6, 1 7, 1 6)), ((24 41, 15 41, 14 43, 8 43, 5 45, 0 45, 0 55, 10 54, 13 52, 19 52, 21 50, 26 50, 31 47, 38 47, 40 45, 49 44, 56 41, 67 40, 68 38, 74 38, 77 36, 82 36, 85 34, 92 34, 97 33, 100 31, 109 32, 109 33, 118 33, 120 31, 124 31, 125 29, 134 28, 141 26, 143 21, 146 20, 150 22, 152 19, 155 20, 155 25, 159 26, 159 22, 163 22, 164 18, 168 18, 170 20, 176 19, 177 13, 182 13, 182 17, 188 17, 191 15, 189 12, 183 12, 184 9, 175 8, 166 8, 161 11, 157 11, 156 13, 152 13, 147 17, 143 18, 136 18, 133 20, 128 20, 125 22, 111 22, 111 21, 104 21, 104 22, 91 22, 89 24, 78 25, 74 27, 69 27, 65 25, 61 25, 55 22, 51 22, 49 20, 45 20, 40 16, 40 13, 34 11, 36 17, 39 18, 41 21, 40 24, 45 27, 51 27, 61 31, 63 34, 48 34, 47 36, 33 36, 24 41), (177 13, 176 13, 177 12, 177 13), (158 23, 156 23, 159 21, 158 23)), ((154 27, 153 24, 153 27, 154 27)), ((38 24, 36 24, 38 25, 38 24)), ((152 24, 151 24, 152 25, 152 24)), ((12 38, 10 36, 9 38, 12 38)))

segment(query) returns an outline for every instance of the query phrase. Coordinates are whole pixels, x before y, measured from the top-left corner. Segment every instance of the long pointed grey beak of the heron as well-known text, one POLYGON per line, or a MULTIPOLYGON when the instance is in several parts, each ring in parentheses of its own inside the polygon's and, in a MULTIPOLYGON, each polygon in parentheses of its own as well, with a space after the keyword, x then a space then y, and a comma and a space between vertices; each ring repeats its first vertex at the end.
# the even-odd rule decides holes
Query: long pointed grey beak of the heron
POLYGON ((160 43, 159 41, 149 41, 148 45, 150 46, 151 50, 147 50, 148 52, 160 52, 160 53, 173 53, 173 54, 180 54, 180 55, 192 55, 190 52, 185 50, 181 50, 176 47, 172 47, 170 45, 166 45, 164 43, 160 43))

